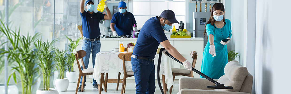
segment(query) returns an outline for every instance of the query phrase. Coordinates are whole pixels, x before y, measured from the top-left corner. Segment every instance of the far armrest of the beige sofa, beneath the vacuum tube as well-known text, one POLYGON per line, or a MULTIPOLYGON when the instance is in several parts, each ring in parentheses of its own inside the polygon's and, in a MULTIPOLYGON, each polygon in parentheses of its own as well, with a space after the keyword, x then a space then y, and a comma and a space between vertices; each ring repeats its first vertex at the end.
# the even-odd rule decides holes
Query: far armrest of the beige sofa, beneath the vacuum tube
MULTIPOLYGON (((217 79, 214 80, 217 81, 217 79)), ((214 90, 206 87, 214 85, 215 85, 214 83, 205 78, 181 77, 179 80, 179 91, 184 88, 214 90)))

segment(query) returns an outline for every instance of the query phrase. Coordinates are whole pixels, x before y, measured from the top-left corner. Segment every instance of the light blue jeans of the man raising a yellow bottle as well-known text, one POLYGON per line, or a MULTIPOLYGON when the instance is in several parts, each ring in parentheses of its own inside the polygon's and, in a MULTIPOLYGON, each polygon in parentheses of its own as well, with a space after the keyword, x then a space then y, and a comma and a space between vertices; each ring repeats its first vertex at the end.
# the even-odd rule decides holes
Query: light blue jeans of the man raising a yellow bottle
MULTIPOLYGON (((100 47, 101 47, 100 40, 97 40, 95 42, 91 42, 91 41, 88 41, 88 40, 83 40, 82 50, 86 51, 86 56, 83 57, 83 61, 84 61, 84 65, 85 65, 86 69, 88 68, 89 58, 90 58, 91 52, 92 52, 92 64, 93 64, 93 68, 94 68, 95 57, 96 57, 96 54, 98 52, 100 52, 100 47)), ((83 67, 81 67, 81 69, 83 70, 83 67)), ((86 76, 85 76, 85 78, 86 78, 86 76)), ((83 76, 81 76, 80 85, 82 84, 82 79, 83 79, 83 76)), ((86 79, 84 81, 86 82, 86 79)), ((84 85, 86 86, 86 84, 84 84, 84 85)), ((96 82, 96 80, 93 79, 93 86, 94 85, 97 85, 97 82, 96 82)))

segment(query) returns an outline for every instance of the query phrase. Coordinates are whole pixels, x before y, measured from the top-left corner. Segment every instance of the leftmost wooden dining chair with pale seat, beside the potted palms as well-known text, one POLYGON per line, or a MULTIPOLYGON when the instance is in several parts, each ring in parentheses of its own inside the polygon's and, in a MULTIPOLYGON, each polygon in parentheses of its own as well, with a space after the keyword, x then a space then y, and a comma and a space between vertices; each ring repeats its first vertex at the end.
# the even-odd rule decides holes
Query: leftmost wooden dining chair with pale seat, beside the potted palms
MULTIPOLYGON (((79 50, 75 54, 76 61, 77 61, 77 65, 78 65, 78 68, 79 68, 79 79, 78 79, 78 83, 77 83, 76 94, 78 92, 78 87, 79 87, 79 83, 80 83, 80 80, 81 80, 81 76, 83 76, 82 86, 81 86, 81 92, 83 92, 84 81, 86 79, 85 76, 86 75, 93 75, 93 71, 94 71, 94 68, 87 68, 87 69, 85 69, 85 65, 84 65, 84 61, 83 61, 83 57, 84 56, 86 56, 86 52, 84 50, 79 50), (79 63, 79 59, 81 59, 81 63, 82 63, 83 70, 81 70, 81 66, 80 66, 80 63, 79 63)), ((99 84, 98 84, 98 87, 99 87, 99 84)))

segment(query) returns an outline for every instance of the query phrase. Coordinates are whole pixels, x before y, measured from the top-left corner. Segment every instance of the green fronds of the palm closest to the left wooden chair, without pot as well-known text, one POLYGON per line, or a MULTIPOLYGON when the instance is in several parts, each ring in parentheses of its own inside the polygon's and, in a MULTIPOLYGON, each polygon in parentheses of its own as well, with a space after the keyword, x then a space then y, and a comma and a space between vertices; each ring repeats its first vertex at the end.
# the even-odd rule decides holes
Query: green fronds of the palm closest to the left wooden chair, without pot
POLYGON ((75 57, 75 54, 76 54, 76 48, 77 46, 79 45, 79 41, 82 39, 82 38, 78 38, 76 41, 70 39, 68 36, 66 36, 67 39, 70 41, 70 44, 68 44, 68 51, 70 52, 69 54, 66 54, 66 56, 68 57, 67 59, 67 62, 70 63, 70 71, 74 71, 74 62, 76 61, 76 57, 75 57))

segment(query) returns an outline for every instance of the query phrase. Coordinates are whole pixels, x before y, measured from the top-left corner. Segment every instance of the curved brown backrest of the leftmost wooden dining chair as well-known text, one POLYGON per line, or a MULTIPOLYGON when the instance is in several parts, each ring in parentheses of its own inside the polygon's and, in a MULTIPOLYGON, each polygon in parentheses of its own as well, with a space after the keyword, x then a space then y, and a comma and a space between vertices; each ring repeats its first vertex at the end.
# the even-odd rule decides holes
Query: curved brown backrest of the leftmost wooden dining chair
POLYGON ((84 50, 79 50, 75 54, 77 65, 78 65, 80 73, 82 72, 82 70, 81 70, 81 66, 80 66, 80 63, 79 63, 79 59, 81 59, 82 67, 83 67, 83 69, 85 69, 85 65, 84 65, 84 61, 83 61, 83 57, 84 56, 86 56, 86 51, 84 51, 84 50))

